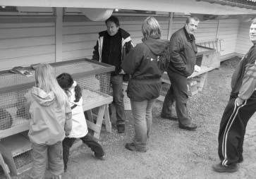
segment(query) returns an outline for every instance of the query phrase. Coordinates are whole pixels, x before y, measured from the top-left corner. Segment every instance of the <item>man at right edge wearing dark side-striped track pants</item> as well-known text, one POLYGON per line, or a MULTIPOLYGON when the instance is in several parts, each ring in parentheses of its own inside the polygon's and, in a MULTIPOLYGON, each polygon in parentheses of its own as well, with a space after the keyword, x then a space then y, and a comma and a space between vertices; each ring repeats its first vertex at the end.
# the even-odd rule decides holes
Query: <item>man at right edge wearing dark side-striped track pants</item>
POLYGON ((235 172, 243 161, 245 128, 256 111, 256 19, 250 25, 253 46, 238 63, 231 80, 231 96, 219 126, 220 163, 213 166, 217 172, 235 172))

